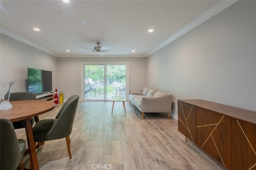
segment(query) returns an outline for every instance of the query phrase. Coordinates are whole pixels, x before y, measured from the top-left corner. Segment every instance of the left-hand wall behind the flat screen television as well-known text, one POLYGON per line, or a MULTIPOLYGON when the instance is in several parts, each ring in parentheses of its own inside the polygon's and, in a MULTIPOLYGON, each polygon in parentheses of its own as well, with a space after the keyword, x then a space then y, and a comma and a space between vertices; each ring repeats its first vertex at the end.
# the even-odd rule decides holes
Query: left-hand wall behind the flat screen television
POLYGON ((28 68, 52 71, 52 88, 57 88, 57 57, 0 34, 0 80, 15 81, 12 92, 25 92, 28 68))

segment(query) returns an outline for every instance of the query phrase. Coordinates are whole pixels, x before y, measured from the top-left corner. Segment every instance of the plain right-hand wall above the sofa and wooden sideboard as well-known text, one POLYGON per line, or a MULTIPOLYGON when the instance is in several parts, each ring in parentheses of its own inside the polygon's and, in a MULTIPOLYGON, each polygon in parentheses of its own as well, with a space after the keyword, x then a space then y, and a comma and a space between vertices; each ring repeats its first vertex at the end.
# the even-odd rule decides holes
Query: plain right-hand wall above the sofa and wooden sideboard
POLYGON ((147 86, 256 111, 256 1, 238 1, 147 57, 147 86))

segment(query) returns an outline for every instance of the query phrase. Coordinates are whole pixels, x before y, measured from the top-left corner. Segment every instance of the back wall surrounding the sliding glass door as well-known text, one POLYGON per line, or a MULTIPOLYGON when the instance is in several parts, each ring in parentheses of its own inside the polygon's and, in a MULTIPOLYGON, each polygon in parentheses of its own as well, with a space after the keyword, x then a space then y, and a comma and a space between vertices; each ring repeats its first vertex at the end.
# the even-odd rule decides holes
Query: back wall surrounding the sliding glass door
POLYGON ((58 58, 58 91, 63 91, 64 99, 73 94, 81 93, 81 63, 82 62, 128 62, 129 88, 142 89, 146 85, 146 58, 145 57, 59 57, 58 58), (134 81, 134 78, 137 81, 134 81))

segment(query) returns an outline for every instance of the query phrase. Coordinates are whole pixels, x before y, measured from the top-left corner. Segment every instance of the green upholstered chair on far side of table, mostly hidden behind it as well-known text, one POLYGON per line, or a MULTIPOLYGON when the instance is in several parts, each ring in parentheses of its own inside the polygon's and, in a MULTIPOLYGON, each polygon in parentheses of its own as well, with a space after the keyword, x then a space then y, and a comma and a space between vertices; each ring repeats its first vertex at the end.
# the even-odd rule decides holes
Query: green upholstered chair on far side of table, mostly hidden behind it
MULTIPOLYGON (((17 100, 36 100, 36 95, 30 92, 10 93, 10 101, 17 101, 17 100)), ((31 125, 34 125, 34 123, 35 123, 35 118, 32 117, 31 125)), ((24 128, 24 126, 20 122, 14 122, 12 124, 14 126, 14 129, 24 128)))

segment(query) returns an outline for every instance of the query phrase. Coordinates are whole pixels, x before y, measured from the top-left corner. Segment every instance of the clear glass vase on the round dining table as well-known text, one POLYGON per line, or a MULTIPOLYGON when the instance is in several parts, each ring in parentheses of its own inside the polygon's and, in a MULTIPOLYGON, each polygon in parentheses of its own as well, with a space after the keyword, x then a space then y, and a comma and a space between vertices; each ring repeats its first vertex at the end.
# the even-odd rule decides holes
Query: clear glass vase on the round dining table
POLYGON ((1 104, 0 109, 10 109, 12 104, 10 103, 10 93, 12 90, 12 81, 1 81, 0 82, 0 94, 1 94, 1 104))

